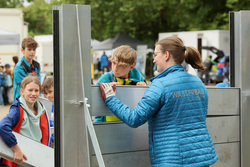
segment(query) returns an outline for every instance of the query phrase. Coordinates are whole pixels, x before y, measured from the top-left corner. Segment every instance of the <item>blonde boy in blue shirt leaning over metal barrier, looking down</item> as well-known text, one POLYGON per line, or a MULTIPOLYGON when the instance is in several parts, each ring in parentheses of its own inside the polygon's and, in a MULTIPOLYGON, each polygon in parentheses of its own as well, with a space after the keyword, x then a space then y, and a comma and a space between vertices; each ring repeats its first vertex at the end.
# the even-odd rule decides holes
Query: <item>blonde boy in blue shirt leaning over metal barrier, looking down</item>
MULTIPOLYGON (((97 81, 99 83, 111 83, 112 85, 137 85, 146 86, 144 79, 135 68, 137 52, 128 45, 122 45, 115 49, 110 58, 112 70, 101 75, 97 81)), ((96 116, 95 122, 119 121, 116 116, 96 116)))

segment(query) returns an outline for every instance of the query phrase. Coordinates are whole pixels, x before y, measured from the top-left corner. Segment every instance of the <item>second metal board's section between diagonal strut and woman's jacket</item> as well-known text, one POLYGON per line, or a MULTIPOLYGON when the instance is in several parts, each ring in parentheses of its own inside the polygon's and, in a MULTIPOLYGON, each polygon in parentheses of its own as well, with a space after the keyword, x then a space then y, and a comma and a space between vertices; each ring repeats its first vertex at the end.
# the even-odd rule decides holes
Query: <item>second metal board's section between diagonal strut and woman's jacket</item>
POLYGON ((130 128, 123 123, 95 124, 103 154, 148 150, 148 124, 130 128))

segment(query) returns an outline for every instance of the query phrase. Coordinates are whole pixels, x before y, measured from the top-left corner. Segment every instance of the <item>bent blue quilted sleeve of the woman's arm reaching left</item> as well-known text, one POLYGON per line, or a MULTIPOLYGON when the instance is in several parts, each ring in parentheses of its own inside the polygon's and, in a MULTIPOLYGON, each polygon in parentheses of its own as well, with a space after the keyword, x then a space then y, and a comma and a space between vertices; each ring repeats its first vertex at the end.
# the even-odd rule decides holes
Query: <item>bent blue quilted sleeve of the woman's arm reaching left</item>
MULTIPOLYGON (((124 123, 131 127, 138 127, 149 120, 164 104, 163 90, 160 82, 151 83, 134 109, 130 109, 115 96, 107 98, 105 104, 124 123)), ((129 95, 124 94, 124 96, 129 95)))

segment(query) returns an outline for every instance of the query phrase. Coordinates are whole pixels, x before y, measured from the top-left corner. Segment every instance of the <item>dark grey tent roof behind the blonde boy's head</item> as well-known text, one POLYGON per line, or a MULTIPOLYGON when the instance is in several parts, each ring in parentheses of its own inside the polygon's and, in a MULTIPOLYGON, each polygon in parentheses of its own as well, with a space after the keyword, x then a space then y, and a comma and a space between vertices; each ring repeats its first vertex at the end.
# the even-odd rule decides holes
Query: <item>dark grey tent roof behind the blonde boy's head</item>
POLYGON ((108 38, 100 42, 100 44, 93 46, 93 50, 112 50, 121 45, 129 45, 134 49, 136 49, 138 45, 147 45, 148 48, 152 48, 152 44, 134 39, 125 33, 118 33, 114 38, 108 38))

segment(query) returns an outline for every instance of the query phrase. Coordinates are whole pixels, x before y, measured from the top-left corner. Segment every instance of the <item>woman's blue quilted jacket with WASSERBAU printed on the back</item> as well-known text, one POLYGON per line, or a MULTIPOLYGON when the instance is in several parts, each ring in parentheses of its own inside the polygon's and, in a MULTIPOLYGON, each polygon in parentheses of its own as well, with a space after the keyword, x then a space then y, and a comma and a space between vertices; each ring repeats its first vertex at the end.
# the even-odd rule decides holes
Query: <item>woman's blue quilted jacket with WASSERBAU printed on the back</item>
POLYGON ((218 159, 206 126, 207 90, 201 80, 174 65, 151 79, 134 109, 115 96, 105 104, 122 121, 148 121, 152 167, 204 167, 218 159))

